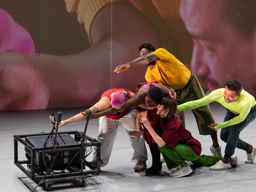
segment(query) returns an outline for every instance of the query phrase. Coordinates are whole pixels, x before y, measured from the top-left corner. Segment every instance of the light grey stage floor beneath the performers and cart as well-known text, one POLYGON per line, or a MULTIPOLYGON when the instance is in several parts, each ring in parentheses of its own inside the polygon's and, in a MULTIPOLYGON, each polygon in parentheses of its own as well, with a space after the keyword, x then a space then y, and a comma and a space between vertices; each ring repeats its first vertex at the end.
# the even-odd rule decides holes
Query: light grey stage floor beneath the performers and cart
MULTIPOLYGON (((210 105, 212 114, 216 122, 221 123, 226 110, 218 103, 210 105)), ((50 132, 52 130, 49 121, 49 113, 57 116, 58 111, 62 111, 62 120, 76 115, 82 108, 63 108, 27 111, 2 111, 0 112, 0 191, 19 191, 28 192, 36 186, 36 182, 27 177, 13 163, 13 135, 50 132)), ((59 131, 83 131, 85 122, 67 124, 59 131)), ((202 144, 202 154, 212 155, 210 146, 212 141, 210 136, 198 134, 196 121, 191 111, 186 111, 186 128, 202 144)), ((98 119, 89 121, 86 135, 96 138, 98 133, 98 119)), ((247 126, 240 134, 240 138, 250 144, 256 145, 255 121, 247 126)), ((219 143, 224 155, 225 143, 219 143)), ((151 166, 151 154, 148 149, 148 167, 151 166)), ((196 168, 194 172, 183 178, 171 178, 168 176, 170 171, 166 164, 163 164, 162 175, 145 176, 145 171, 134 172, 135 163, 131 161, 132 148, 124 128, 119 128, 109 164, 101 168, 100 175, 86 180, 86 187, 80 187, 75 180, 54 184, 52 191, 141 191, 141 192, 160 192, 160 191, 218 191, 218 192, 239 192, 256 191, 256 163, 245 164, 246 154, 240 149, 236 149, 234 156, 238 158, 236 168, 223 171, 210 171, 209 167, 196 168)), ((89 158, 90 159, 90 158, 89 158)), ((26 160, 24 146, 19 144, 19 160, 26 160)), ((191 162, 188 162, 191 164, 191 162)), ((45 191, 45 184, 39 185, 35 191, 45 191)))

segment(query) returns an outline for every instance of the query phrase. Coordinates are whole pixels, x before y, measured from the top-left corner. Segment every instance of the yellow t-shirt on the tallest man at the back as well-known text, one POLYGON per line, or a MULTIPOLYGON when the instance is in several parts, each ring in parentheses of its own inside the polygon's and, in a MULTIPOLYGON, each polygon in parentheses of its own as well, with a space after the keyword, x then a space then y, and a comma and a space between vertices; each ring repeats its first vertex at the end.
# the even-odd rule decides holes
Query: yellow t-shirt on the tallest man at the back
POLYGON ((159 60, 156 60, 154 68, 148 66, 145 75, 148 82, 158 81, 160 84, 169 85, 174 90, 182 89, 188 84, 191 71, 171 53, 160 48, 151 54, 155 54, 159 60))

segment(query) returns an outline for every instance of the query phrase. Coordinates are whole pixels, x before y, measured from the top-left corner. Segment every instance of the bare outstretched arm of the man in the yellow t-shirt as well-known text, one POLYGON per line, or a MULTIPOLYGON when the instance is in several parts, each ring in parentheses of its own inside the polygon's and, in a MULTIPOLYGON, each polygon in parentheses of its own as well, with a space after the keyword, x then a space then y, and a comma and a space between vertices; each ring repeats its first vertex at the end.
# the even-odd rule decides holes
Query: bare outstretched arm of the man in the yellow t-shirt
POLYGON ((148 54, 146 56, 139 57, 129 63, 124 64, 124 65, 117 66, 116 69, 114 70, 114 72, 120 73, 132 66, 148 65, 150 62, 158 60, 158 59, 159 59, 159 57, 156 56, 155 54, 148 54))

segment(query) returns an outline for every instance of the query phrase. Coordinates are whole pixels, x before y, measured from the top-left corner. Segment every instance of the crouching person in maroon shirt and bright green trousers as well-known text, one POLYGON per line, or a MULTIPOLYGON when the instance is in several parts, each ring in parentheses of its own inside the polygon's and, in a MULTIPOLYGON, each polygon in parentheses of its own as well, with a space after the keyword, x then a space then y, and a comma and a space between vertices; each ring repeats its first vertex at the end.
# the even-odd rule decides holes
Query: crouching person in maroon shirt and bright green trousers
MULTIPOLYGON (((137 115, 137 126, 141 123, 158 144, 169 170, 177 170, 169 174, 170 177, 183 177, 193 172, 185 161, 191 161, 197 166, 212 166, 221 157, 201 155, 201 144, 192 137, 175 117, 177 101, 172 97, 165 97, 156 109, 142 111, 137 115)), ((231 164, 237 164, 237 158, 231 158, 231 164)))

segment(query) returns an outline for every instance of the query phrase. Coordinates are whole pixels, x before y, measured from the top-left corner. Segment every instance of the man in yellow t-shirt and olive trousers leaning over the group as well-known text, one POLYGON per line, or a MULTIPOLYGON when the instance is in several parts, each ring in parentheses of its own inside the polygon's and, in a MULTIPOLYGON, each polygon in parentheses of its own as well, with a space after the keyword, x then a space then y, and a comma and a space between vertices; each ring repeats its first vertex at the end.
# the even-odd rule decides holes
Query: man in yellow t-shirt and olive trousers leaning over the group
MULTIPOLYGON (((114 72, 120 73, 131 66, 146 65, 148 66, 145 75, 146 80, 154 80, 171 87, 173 89, 172 96, 176 97, 178 104, 186 103, 190 100, 198 100, 205 96, 196 76, 171 53, 163 48, 156 49, 151 43, 141 44, 139 52, 139 58, 117 66, 114 72)), ((192 112, 196 118, 199 134, 211 135, 213 144, 210 150, 212 154, 222 157, 217 132, 207 126, 209 123, 215 123, 209 105, 193 109, 192 112)), ((180 119, 183 126, 185 126, 184 111, 180 113, 180 119)))

